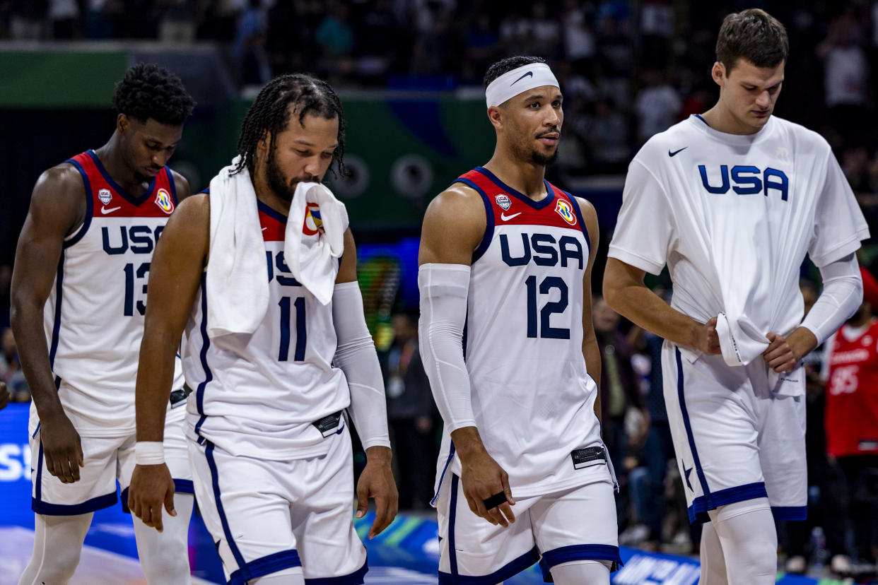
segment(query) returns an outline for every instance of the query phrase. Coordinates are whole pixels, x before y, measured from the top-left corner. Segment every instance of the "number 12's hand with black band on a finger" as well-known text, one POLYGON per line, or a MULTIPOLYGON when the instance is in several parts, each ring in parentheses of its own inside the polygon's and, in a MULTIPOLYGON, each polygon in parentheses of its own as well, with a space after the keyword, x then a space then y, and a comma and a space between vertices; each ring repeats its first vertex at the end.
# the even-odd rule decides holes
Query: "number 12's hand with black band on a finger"
POLYGON ((461 457, 460 463, 460 482, 464 486, 466 503, 470 505, 472 513, 504 528, 510 522, 515 522, 515 514, 512 512, 515 500, 512 499, 512 489, 509 488, 509 475, 503 467, 485 449, 479 449, 466 458, 461 457), (501 492, 506 495, 506 502, 487 510, 485 500, 501 492))

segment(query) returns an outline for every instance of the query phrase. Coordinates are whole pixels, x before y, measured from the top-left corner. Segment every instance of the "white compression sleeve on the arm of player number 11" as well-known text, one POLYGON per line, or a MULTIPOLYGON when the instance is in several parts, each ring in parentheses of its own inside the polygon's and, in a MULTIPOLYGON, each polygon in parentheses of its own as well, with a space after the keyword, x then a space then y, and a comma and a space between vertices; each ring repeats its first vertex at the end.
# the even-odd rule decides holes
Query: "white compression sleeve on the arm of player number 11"
POLYGON ((336 284, 332 295, 332 320, 338 347, 335 365, 342 368, 350 388, 350 417, 360 434, 363 449, 390 446, 384 378, 375 343, 366 327, 363 295, 354 282, 336 284))

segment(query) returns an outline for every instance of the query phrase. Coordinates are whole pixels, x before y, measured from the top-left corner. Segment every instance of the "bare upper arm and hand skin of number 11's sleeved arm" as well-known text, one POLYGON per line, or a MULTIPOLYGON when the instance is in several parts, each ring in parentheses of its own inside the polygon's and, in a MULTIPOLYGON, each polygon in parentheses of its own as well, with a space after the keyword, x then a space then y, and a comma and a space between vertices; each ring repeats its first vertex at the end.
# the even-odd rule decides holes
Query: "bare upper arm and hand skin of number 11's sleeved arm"
MULTIPOLYGON (((356 242, 350 228, 344 232, 344 253, 335 277, 336 284, 343 282, 356 282, 356 242)), ((384 400, 383 397, 381 399, 384 400)), ((375 500, 375 521, 369 529, 370 539, 392 523, 399 508, 399 494, 391 467, 392 458, 389 447, 368 447, 366 467, 363 467, 363 473, 356 482, 356 517, 365 515, 369 498, 375 500)))

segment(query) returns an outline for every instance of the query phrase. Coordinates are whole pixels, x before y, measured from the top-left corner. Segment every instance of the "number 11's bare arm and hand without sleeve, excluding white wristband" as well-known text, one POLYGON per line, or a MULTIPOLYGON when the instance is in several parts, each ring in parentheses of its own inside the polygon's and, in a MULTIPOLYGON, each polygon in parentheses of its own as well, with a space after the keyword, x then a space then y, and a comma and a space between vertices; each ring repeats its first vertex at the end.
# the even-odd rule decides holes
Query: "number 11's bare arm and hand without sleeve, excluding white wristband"
MULTIPOLYGON (((174 356, 198 293, 210 239, 206 195, 188 198, 176 209, 155 246, 148 291, 162 303, 147 302, 135 407, 137 440, 161 442, 165 410, 174 382, 174 356)), ((144 524, 162 531, 162 505, 174 511, 174 481, 168 467, 134 467, 128 507, 144 524)))

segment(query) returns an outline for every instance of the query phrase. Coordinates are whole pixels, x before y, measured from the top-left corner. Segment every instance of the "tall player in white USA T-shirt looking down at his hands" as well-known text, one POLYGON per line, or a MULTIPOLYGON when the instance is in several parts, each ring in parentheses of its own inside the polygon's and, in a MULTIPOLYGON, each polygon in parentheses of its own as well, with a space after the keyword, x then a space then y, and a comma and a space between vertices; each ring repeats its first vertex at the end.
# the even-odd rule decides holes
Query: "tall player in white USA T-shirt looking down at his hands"
POLYGON ((631 162, 604 276, 608 303, 666 339, 662 370, 702 583, 774 583, 774 519, 806 513, 802 356, 860 305, 866 222, 830 146, 772 116, 783 25, 723 20, 716 105, 631 162), (802 320, 805 254, 824 290, 802 320), (644 286, 667 266, 670 305, 644 286), (774 517, 774 518, 773 518, 774 517))

